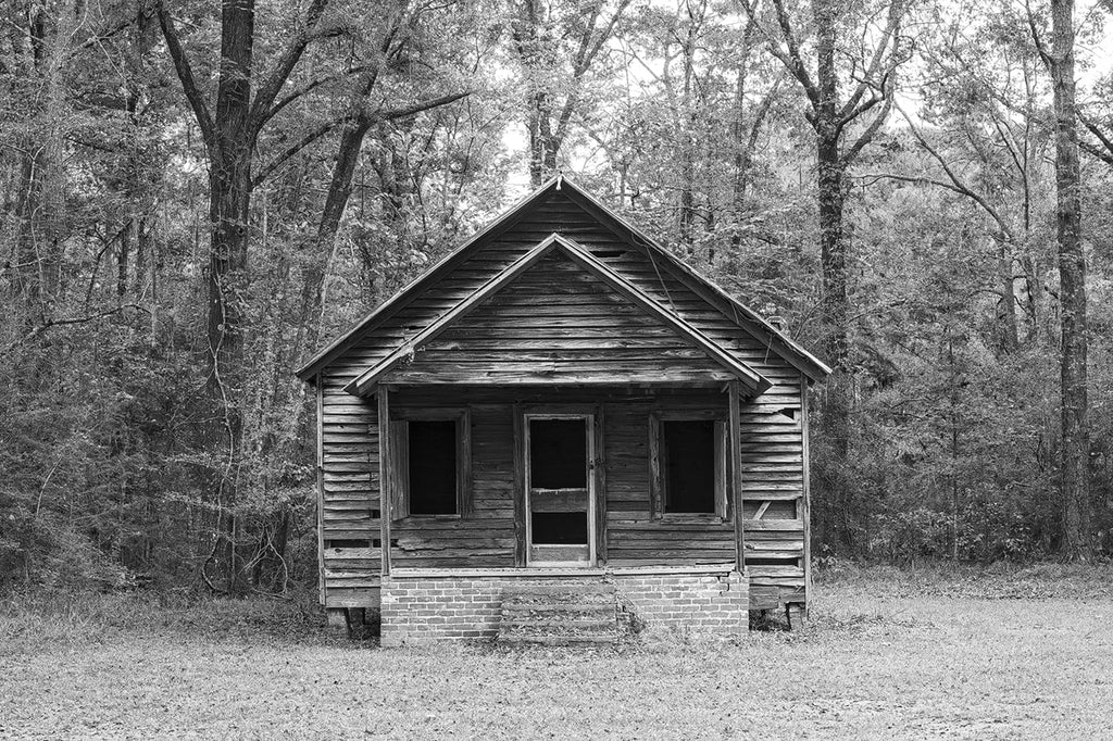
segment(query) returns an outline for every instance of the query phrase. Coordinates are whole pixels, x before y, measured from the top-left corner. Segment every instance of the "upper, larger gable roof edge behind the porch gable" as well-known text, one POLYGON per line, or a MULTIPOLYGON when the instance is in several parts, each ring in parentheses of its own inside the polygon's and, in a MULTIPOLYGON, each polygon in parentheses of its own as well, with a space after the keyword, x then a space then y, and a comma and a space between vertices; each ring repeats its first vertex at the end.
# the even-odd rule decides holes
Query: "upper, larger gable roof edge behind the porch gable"
MULTIPOLYGON (((823 381, 830 374, 830 368, 825 363, 761 318, 757 312, 738 302, 701 274, 681 263, 654 239, 628 223, 574 182, 563 176, 556 176, 504 211, 499 218, 474 234, 463 245, 446 255, 423 275, 380 305, 378 308, 364 317, 354 328, 317 353, 296 372, 297 376, 303 381, 312 381, 317 373, 352 347, 359 337, 382 324, 395 312, 406 306, 415 297, 422 295, 427 288, 452 273, 453 269, 466 260, 483 244, 512 227, 532 206, 544 200, 555 190, 563 191, 571 200, 577 202, 607 228, 620 235, 626 241, 646 250, 654 264, 660 260, 668 271, 689 289, 722 313, 728 319, 776 352, 786 362, 804 373, 810 381, 823 381)), ((579 253, 594 259, 582 248, 579 249, 579 253)), ((598 263, 599 260, 595 261, 598 263)), ((603 268, 610 270, 605 265, 603 265, 603 268)), ((610 271, 613 273, 613 270, 610 271)), ((619 277, 621 278, 621 276, 619 277)), ((644 294, 642 294, 642 298, 657 304, 657 302, 653 302, 653 299, 647 297, 644 294)), ((659 309, 676 317, 674 313, 663 309, 660 305, 657 306, 659 309)))

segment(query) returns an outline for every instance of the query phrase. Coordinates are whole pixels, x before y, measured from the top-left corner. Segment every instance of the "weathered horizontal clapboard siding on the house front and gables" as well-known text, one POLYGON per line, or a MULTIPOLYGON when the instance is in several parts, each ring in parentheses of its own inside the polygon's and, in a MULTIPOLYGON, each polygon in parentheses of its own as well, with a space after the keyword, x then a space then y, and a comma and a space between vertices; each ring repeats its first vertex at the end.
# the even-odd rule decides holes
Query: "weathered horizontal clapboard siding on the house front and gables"
MULTIPOLYGON (((765 335, 748 325, 745 317, 730 318, 729 304, 701 292, 690 276, 681 275, 668 261, 652 259, 649 250, 629 244, 626 234, 603 226, 589 211, 575 198, 550 191, 544 200, 461 256, 454 269, 437 283, 368 327, 323 370, 323 540, 326 545, 332 540, 368 543, 366 549, 338 549, 332 553, 325 549, 324 582, 331 605, 342 606, 343 600, 364 599, 363 585, 377 583, 378 575, 375 411, 373 404, 345 394, 343 386, 554 231, 574 239, 662 307, 772 382, 771 388, 741 408, 746 560, 754 583, 768 587, 765 592, 757 590, 756 594, 802 601, 806 487, 800 369, 781 358, 769 337, 760 339, 765 335), (792 413, 795 419, 788 416, 792 413)), ((474 320, 454 325, 420 352, 414 363, 397 368, 384 383, 490 383, 494 365, 500 368, 498 383, 518 388, 518 398, 522 398, 532 393, 533 385, 559 381, 559 368, 565 360, 571 360, 568 367, 578 367, 578 383, 617 381, 628 389, 641 382, 659 383, 662 374, 669 374, 664 379, 686 386, 718 384, 729 377, 713 364, 701 366, 700 363, 710 362, 691 346, 676 344, 676 335, 668 327, 622 310, 614 305, 613 297, 598 287, 584 292, 588 286, 582 285, 585 281, 575 270, 544 267, 550 278, 560 275, 559 280, 544 286, 554 294, 554 306, 539 310, 535 303, 530 304, 526 292, 504 290, 490 306, 477 309, 474 320), (569 281, 569 275, 575 280, 569 281), (603 307, 608 310, 601 310, 603 307), (487 314, 480 316, 481 312, 487 314), (496 320, 496 326, 480 320, 484 317, 496 320), (630 332, 632 328, 637 330, 630 332), (673 354, 671 359, 682 364, 682 369, 662 363, 661 358, 669 353, 673 354), (638 368, 642 365, 646 370, 640 376, 638 368)), ((526 271, 522 278, 535 279, 542 275, 542 271, 526 271)), ((521 286, 514 284, 512 288, 521 286)), ((588 396, 581 389, 573 398, 585 401, 588 396)), ((725 398, 722 394, 719 396, 725 398)), ((475 398, 471 394, 469 397, 475 398)), ((627 564, 656 564, 662 559, 692 563, 730 561, 733 557, 730 523, 648 522, 648 414, 654 402, 651 397, 636 402, 627 396, 621 404, 615 399, 605 406, 609 561, 627 564), (638 417, 642 413, 647 422, 639 434, 637 419, 631 415, 638 417), (614 445, 611 434, 617 441, 614 445), (662 534, 664 528, 668 534, 662 534)), ((473 516, 466 525, 463 521, 422 523, 420 527, 417 523, 413 526, 394 523, 392 541, 397 546, 392 561, 398 565, 465 565, 462 559, 466 559, 466 565, 513 563, 513 446, 512 442, 506 444, 508 437, 513 438, 513 415, 506 404, 489 407, 482 411, 473 407, 473 516), (483 445, 487 447, 481 449, 483 445), (486 478, 481 481, 483 476, 486 478), (442 532, 445 535, 439 534, 442 532)))

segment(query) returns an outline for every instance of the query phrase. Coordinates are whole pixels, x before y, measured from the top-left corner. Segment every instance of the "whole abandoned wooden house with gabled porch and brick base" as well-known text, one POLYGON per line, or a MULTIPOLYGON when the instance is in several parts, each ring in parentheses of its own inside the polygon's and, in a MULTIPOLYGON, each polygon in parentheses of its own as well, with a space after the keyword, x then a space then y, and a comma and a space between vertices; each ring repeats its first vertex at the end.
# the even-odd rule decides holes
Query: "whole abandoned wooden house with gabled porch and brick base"
POLYGON ((555 177, 298 372, 324 606, 383 645, 799 614, 828 373, 555 177))

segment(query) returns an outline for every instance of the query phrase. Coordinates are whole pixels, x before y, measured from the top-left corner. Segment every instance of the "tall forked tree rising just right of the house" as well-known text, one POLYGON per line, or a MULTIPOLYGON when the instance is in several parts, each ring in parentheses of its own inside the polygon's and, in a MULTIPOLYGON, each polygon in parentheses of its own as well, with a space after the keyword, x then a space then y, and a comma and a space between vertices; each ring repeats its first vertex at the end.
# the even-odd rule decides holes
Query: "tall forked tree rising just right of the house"
POLYGON ((854 547, 853 487, 839 474, 850 452, 854 379, 850 355, 850 296, 844 214, 847 170, 877 136, 893 106, 896 75, 907 59, 902 43, 905 0, 879 7, 851 7, 812 0, 792 8, 745 6, 805 96, 805 117, 815 134, 820 265, 823 268, 824 354, 834 374, 824 395, 821 439, 829 446, 818 466, 817 530, 830 544, 854 547), (875 18, 884 19, 879 24, 875 18), (805 29, 811 29, 810 34, 805 29), (854 80, 844 90, 843 79, 854 80), (850 132, 853 131, 853 136, 850 132))

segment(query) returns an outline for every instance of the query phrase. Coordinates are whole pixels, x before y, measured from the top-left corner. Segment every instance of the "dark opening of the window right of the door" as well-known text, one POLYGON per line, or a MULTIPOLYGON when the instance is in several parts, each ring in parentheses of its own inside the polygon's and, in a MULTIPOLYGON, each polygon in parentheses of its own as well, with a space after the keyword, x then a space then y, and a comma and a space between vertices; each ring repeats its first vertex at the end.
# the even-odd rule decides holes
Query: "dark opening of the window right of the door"
POLYGON ((715 512, 715 422, 661 423, 666 512, 715 512))

